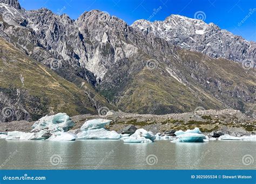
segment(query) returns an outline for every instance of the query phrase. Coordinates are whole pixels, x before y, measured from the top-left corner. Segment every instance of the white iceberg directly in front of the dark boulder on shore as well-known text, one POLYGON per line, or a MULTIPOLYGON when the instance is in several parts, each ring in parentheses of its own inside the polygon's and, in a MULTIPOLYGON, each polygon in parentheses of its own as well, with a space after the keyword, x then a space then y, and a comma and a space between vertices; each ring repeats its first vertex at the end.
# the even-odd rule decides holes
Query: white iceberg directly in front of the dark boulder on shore
POLYGON ((136 130, 129 138, 124 139, 124 143, 152 143, 156 139, 156 136, 152 132, 148 132, 144 129, 136 130))

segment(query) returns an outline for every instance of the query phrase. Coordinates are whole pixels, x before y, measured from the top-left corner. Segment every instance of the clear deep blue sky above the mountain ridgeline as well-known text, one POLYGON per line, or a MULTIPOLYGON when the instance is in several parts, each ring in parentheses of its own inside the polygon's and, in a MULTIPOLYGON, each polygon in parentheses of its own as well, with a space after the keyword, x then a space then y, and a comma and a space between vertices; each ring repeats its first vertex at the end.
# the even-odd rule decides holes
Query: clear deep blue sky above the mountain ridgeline
POLYGON ((171 14, 190 18, 203 15, 206 23, 212 22, 221 29, 226 29, 247 40, 256 41, 255 0, 19 0, 19 2, 26 10, 45 7, 55 13, 66 13, 73 19, 77 19, 84 11, 102 10, 125 20, 128 24, 132 24, 137 19, 149 19, 157 9, 159 11, 150 18, 150 21, 164 20, 171 14))

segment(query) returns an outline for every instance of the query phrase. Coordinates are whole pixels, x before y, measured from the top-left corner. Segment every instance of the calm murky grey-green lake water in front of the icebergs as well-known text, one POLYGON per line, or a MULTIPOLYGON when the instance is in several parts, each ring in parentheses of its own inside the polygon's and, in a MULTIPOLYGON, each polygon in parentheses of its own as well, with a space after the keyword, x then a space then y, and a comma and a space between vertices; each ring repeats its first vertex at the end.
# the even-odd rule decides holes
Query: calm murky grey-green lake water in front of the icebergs
POLYGON ((125 144, 122 140, 0 139, 0 166, 0 169, 255 169, 256 142, 165 140, 125 144), (243 157, 247 157, 245 164, 243 157))

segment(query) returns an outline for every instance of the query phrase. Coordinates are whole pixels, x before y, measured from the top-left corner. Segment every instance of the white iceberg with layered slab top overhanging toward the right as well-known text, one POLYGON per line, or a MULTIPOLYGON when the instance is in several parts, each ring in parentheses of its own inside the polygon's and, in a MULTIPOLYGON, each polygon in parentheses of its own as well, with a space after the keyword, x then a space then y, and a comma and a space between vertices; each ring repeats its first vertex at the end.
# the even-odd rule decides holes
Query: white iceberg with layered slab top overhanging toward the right
POLYGON ((77 133, 77 139, 120 139, 122 136, 104 128, 111 120, 92 119, 86 121, 81 127, 81 132, 77 133))

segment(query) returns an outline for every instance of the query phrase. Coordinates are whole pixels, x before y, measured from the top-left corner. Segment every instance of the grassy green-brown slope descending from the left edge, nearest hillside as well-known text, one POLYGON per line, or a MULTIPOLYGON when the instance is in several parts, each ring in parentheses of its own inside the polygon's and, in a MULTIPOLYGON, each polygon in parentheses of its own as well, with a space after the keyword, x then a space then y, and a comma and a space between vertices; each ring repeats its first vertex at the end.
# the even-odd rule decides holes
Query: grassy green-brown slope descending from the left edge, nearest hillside
MULTIPOLYGON (((84 93, 84 88, 91 88, 86 81, 83 87, 78 88, 2 38, 0 45, 1 121, 34 121, 57 112, 69 115, 97 113, 84 93)), ((96 98, 102 97, 98 95, 96 98)))

